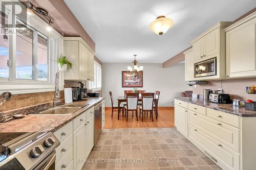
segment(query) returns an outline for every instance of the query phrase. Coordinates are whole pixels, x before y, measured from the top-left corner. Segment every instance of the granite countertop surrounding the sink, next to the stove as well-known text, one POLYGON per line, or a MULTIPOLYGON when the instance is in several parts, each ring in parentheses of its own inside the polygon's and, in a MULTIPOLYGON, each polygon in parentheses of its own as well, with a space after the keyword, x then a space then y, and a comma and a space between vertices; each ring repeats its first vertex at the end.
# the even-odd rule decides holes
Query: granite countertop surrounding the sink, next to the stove
POLYGON ((0 133, 2 132, 55 132, 66 125, 74 118, 87 111, 94 105, 100 103, 105 98, 88 98, 87 101, 77 101, 74 103, 89 104, 73 114, 51 114, 38 115, 30 114, 24 118, 15 119, 10 122, 0 123, 0 133))

